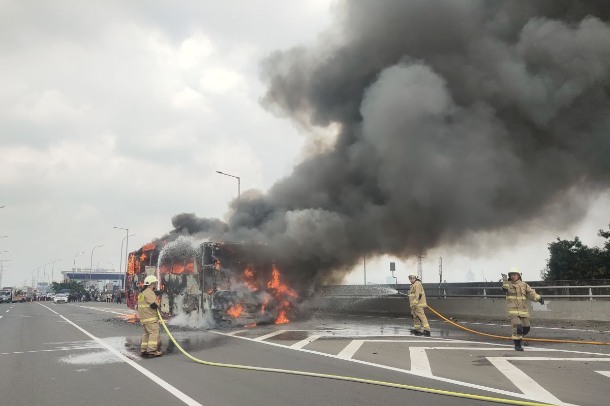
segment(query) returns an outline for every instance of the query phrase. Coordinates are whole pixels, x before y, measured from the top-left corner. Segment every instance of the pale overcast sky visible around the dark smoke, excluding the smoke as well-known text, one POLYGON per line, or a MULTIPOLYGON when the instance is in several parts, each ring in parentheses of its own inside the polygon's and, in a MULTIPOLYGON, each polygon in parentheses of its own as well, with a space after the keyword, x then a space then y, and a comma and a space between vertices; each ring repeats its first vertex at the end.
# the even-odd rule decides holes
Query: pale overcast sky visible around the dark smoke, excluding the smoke
MULTIPOLYGON (((169 231, 180 212, 226 219, 237 183, 216 170, 242 177, 242 192, 290 175, 312 138, 261 106, 260 64, 315 43, 335 13, 322 0, 2 1, 0 251, 11 250, 0 254, 10 259, 2 286, 29 284, 55 259, 58 280, 79 251, 76 266, 88 267, 96 245, 104 247, 93 264, 118 268, 125 233, 112 226, 136 234, 135 248, 169 231)), ((537 279, 555 237, 600 243, 610 194, 585 201, 569 226, 431 250, 424 281, 437 280, 439 256, 448 281, 464 281, 468 268, 497 279, 511 266, 537 279)), ((367 258, 368 281, 385 282, 389 261, 399 262, 399 281, 415 267, 367 258)), ((363 280, 359 267, 345 282, 363 280)))

